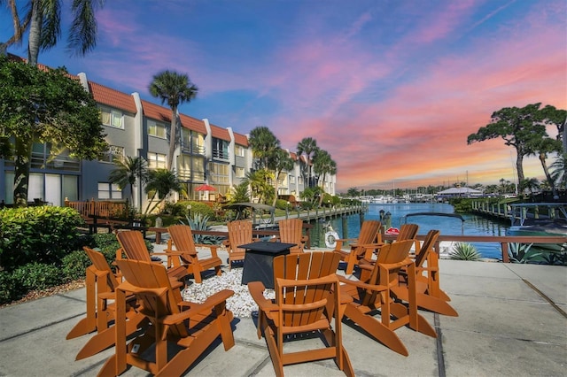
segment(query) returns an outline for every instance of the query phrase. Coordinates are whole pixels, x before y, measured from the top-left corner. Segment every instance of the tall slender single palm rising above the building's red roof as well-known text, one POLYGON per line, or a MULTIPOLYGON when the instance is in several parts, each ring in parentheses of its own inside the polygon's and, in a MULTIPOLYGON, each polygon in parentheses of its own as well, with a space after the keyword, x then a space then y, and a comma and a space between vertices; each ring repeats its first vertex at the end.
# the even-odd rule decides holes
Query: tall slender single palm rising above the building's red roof
POLYGON ((161 104, 167 102, 171 109, 169 153, 167 154, 167 169, 171 169, 177 141, 177 108, 180 104, 189 103, 194 99, 198 88, 190 81, 189 75, 166 70, 153 76, 149 89, 151 96, 159 97, 161 104))

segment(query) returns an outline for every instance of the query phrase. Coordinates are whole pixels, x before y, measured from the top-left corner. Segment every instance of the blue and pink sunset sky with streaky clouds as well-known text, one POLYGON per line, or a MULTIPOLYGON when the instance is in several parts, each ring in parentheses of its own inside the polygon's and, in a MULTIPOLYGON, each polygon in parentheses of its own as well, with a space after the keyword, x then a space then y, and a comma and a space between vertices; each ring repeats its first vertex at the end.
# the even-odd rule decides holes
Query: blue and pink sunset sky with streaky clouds
MULTIPOLYGON (((564 0, 120 0, 97 20, 97 48, 72 58, 64 13, 39 61, 157 104, 152 76, 188 73, 198 96, 180 112, 269 127, 291 151, 313 137, 338 191, 514 181, 514 149, 467 136, 503 107, 567 109, 564 0)), ((0 40, 11 35, 4 7, 0 40)), ((27 39, 9 52, 27 57, 27 39)), ((537 158, 524 170, 543 178, 537 158)))

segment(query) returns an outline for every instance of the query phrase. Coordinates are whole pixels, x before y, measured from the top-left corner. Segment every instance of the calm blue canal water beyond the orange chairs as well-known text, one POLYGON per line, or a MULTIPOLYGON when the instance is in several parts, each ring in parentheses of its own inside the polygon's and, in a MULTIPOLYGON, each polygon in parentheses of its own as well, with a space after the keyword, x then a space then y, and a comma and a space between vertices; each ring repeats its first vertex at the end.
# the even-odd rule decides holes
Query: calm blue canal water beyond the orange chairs
MULTIPOLYGON (((369 204, 369 212, 364 213, 364 219, 380 219, 380 210, 392 214, 392 227, 400 227, 403 216, 416 212, 453 213, 453 206, 440 203, 416 204, 369 204)), ((425 235, 431 229, 439 229, 441 235, 506 235, 508 224, 491 221, 475 215, 462 215, 465 219, 447 218, 442 216, 409 217, 407 222, 419 225, 419 235, 425 235)), ((314 246, 324 247, 325 222, 314 224, 311 230, 311 242, 314 246)), ((383 222, 384 224, 384 222, 383 222)), ((340 218, 331 220, 332 227, 341 238, 355 238, 361 231, 361 217, 351 215, 346 217, 346 228, 340 218)), ((472 242, 478 252, 485 258, 501 258, 501 246, 498 242, 472 242)))

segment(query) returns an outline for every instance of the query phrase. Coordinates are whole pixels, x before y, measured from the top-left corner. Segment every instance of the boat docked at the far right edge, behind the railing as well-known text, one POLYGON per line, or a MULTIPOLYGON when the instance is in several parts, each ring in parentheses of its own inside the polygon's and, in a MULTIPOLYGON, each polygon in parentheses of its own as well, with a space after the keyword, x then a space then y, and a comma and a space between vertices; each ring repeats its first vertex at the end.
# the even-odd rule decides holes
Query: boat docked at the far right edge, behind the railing
MULTIPOLYGON (((509 204, 507 235, 563 235, 567 237, 567 203, 509 204)), ((562 244, 538 244, 542 249, 562 251, 562 244)))

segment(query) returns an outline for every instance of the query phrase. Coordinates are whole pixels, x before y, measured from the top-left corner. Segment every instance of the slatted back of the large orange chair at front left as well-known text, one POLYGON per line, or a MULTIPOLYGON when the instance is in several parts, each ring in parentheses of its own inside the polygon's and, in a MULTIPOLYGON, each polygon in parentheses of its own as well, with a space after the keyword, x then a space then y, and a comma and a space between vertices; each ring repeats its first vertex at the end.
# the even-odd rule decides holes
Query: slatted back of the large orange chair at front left
MULTIPOLYGON (((124 279, 139 289, 135 295, 143 304, 144 315, 162 318, 180 312, 177 304, 182 301, 181 294, 179 289, 172 289, 164 265, 133 259, 117 260, 116 264, 124 279)), ((187 329, 183 324, 176 324, 168 328, 168 334, 184 337, 187 329)))

